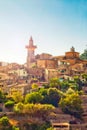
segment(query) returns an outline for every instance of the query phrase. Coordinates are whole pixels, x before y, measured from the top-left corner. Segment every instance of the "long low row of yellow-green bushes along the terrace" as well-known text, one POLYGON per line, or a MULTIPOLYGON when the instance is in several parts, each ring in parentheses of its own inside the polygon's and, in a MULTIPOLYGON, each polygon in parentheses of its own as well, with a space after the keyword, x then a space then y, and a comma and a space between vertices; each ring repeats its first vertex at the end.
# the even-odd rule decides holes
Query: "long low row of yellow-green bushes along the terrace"
POLYGON ((23 104, 18 103, 14 107, 16 113, 28 113, 31 116, 43 117, 47 116, 54 107, 48 104, 23 104))

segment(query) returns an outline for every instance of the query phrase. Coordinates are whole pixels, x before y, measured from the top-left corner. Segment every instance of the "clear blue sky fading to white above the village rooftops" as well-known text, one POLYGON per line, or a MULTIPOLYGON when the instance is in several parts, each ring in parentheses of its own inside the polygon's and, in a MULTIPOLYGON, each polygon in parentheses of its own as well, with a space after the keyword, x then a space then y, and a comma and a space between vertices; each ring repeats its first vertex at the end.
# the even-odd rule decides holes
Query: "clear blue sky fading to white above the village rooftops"
POLYGON ((36 54, 83 53, 87 0, 0 0, 0 61, 25 63, 31 35, 36 54))

